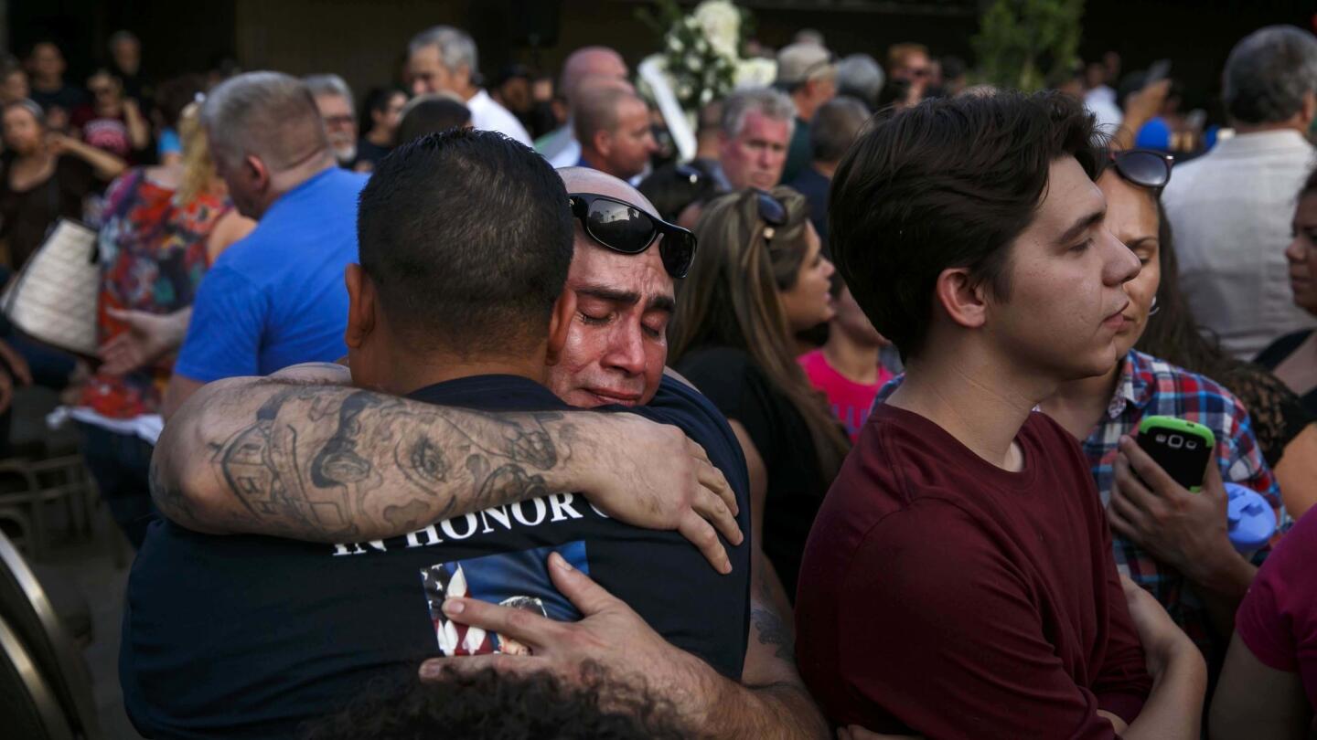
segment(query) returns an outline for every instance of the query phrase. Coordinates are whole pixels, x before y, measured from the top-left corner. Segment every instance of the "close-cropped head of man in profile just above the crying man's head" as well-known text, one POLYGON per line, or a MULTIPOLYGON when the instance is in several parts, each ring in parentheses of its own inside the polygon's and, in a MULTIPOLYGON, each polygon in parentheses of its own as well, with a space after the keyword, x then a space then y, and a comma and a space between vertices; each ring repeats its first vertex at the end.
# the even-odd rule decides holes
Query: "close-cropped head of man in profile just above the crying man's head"
POLYGON ((581 95, 572 120, 583 167, 630 180, 658 150, 649 128, 649 107, 633 92, 595 90, 581 95))

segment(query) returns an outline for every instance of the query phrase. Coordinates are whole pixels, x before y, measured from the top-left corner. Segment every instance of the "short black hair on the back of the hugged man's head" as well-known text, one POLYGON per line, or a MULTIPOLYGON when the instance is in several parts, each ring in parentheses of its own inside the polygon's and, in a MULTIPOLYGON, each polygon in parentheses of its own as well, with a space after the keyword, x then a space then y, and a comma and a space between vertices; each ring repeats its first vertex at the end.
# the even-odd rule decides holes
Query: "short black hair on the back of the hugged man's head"
POLYGON ((357 234, 390 324, 462 357, 543 341, 572 263, 562 179, 494 132, 452 129, 394 149, 361 191, 357 234))

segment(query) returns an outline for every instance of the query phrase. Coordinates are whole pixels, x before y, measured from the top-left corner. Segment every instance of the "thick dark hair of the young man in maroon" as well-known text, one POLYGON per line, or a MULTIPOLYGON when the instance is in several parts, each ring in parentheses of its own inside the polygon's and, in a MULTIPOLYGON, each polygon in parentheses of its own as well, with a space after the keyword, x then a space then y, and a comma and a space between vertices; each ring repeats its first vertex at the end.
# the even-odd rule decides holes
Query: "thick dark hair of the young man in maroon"
POLYGON ((1102 163, 1093 116, 1059 92, 926 100, 878 120, 832 179, 832 259, 856 303, 902 357, 928 332, 934 286, 968 267, 1010 296, 1010 245, 1034 220, 1055 159, 1090 178, 1102 163))

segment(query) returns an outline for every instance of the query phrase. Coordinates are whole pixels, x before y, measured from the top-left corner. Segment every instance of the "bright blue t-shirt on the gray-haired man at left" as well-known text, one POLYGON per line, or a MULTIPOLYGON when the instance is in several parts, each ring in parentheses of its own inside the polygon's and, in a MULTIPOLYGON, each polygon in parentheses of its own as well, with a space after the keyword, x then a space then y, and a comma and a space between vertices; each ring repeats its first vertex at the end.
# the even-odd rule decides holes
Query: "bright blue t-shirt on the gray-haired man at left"
POLYGON ((202 280, 174 371, 209 383, 348 354, 342 274, 367 179, 333 167, 275 200, 202 280))

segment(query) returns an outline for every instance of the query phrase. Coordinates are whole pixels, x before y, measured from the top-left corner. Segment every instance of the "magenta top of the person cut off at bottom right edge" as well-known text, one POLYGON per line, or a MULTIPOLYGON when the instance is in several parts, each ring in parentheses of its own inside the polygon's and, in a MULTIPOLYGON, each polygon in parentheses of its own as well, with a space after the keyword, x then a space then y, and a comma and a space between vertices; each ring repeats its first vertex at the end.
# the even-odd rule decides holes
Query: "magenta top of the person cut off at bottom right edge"
MULTIPOLYGON (((1314 508, 1317 511, 1317 508, 1314 508)), ((1305 514, 1258 569, 1235 632, 1264 665, 1299 673, 1317 708, 1317 516, 1305 514)))

